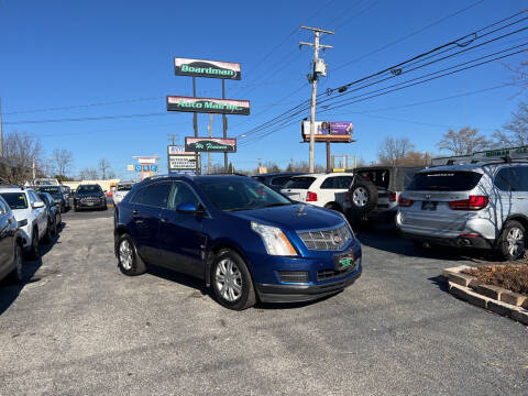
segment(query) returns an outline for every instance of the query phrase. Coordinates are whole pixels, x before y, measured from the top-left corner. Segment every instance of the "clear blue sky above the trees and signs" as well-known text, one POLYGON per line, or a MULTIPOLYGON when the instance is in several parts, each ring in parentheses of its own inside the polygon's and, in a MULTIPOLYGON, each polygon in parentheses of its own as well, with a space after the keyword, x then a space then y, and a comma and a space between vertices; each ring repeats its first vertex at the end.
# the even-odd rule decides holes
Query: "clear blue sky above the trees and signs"
MULTIPOLYGON (((336 33, 321 37, 333 48, 321 53, 328 75, 320 78, 318 94, 331 99, 339 94, 327 96, 327 89, 473 32, 479 31, 470 36, 474 42, 464 47, 469 38, 459 41, 459 46, 451 45, 437 58, 527 28, 528 22, 521 21, 481 38, 492 30, 483 28, 527 8, 528 0, 0 0, 3 133, 18 130, 36 136, 47 156, 54 148, 72 151, 70 176, 107 158, 118 176, 131 178, 127 165, 136 155, 160 155, 160 169, 166 173, 169 134, 177 135, 177 144, 194 135, 190 113, 166 111, 167 95, 193 96, 191 79, 174 74, 174 57, 235 62, 241 64, 242 79, 226 81, 227 98, 250 100, 251 114, 228 117, 228 135, 239 143, 230 161, 243 169, 255 168, 258 161, 286 167, 292 158, 308 161, 300 121, 309 110, 292 118, 290 125, 253 129, 310 98, 306 76, 314 53, 309 47, 299 50, 298 43, 314 42, 314 34, 300 25, 336 33), (264 132, 270 133, 262 138, 264 132)), ((514 46, 517 50, 510 53, 520 51, 526 43, 528 30, 383 84, 349 89, 343 98, 332 100, 514 46)), ((356 142, 333 144, 336 155, 376 161, 387 136, 409 138, 418 151, 447 155, 436 144, 449 128, 470 125, 491 136, 512 118, 526 95, 512 85, 510 68, 524 59, 525 54, 517 54, 337 109, 323 108, 332 101, 320 103, 316 119, 353 122, 356 142), (453 98, 440 100, 448 97, 453 98)), ((391 73, 382 77, 387 76, 391 73)), ((370 81, 375 79, 362 85, 370 81)), ((221 80, 197 79, 197 96, 220 98, 221 80)), ((199 135, 208 135, 208 114, 198 116, 199 135)), ((212 134, 222 135, 221 116, 213 116, 212 134)), ((212 162, 223 163, 223 154, 212 154, 212 162)), ((316 163, 326 163, 324 144, 316 144, 316 163)))

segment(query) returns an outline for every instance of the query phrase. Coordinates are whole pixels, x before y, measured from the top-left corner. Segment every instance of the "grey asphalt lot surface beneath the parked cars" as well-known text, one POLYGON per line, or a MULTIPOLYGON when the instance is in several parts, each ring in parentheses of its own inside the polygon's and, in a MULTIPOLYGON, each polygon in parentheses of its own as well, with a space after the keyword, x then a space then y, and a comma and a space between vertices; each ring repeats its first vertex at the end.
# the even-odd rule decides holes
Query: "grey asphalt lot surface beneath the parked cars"
POLYGON ((439 282, 482 257, 362 232, 343 293, 235 312, 177 273, 121 275, 112 215, 65 213, 26 283, 0 286, 0 395, 526 395, 528 328, 439 282))

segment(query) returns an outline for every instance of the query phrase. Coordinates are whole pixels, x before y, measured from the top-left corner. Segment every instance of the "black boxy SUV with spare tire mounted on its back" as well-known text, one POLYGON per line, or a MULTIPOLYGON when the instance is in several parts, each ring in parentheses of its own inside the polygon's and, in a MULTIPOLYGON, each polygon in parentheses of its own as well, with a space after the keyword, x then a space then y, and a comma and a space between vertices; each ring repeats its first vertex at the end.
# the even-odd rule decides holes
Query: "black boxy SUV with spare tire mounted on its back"
POLYGON ((398 197, 424 166, 362 166, 345 194, 344 210, 353 220, 394 222, 398 197))

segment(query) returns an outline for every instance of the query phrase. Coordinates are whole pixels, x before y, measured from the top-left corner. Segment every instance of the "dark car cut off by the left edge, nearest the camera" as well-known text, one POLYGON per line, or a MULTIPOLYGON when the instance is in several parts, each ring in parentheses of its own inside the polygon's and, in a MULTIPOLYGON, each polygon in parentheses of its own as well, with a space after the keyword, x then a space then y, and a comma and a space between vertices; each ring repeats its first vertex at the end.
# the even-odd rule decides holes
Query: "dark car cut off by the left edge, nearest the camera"
POLYGON ((11 208, 0 197, 0 280, 22 282, 24 239, 11 208))

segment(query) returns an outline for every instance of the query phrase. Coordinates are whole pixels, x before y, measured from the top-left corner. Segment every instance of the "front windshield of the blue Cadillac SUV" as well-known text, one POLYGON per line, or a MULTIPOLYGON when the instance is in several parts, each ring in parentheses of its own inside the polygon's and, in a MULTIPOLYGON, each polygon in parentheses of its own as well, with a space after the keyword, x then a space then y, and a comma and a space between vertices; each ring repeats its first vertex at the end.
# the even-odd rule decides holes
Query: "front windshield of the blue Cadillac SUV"
POLYGON ((292 205, 289 199, 252 179, 229 179, 199 184, 217 209, 234 211, 292 205))

